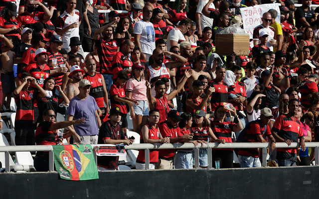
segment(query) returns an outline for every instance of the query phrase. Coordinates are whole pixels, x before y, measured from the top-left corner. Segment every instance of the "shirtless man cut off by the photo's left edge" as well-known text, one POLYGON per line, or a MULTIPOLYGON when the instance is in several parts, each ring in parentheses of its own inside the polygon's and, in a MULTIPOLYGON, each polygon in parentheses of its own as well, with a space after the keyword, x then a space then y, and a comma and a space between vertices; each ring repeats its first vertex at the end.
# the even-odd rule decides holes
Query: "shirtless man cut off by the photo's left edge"
MULTIPOLYGON (((12 44, 12 39, 8 38, 9 42, 12 44)), ((7 44, 3 44, 2 48, 7 47, 7 44)), ((14 75, 13 75, 13 60, 15 53, 11 50, 3 52, 0 54, 0 59, 2 63, 1 73, 1 83, 2 83, 2 99, 0 110, 2 111, 5 97, 7 98, 5 108, 6 110, 10 109, 11 94, 15 89, 14 85, 14 75)))

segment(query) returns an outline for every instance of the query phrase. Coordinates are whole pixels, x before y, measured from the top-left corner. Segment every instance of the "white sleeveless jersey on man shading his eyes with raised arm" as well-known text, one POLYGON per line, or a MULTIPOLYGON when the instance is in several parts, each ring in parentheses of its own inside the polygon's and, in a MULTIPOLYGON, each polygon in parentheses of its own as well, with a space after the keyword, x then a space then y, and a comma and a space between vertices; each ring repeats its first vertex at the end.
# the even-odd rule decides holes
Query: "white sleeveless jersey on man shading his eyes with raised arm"
MULTIPOLYGON (((155 89, 154 89, 155 83, 162 78, 168 78, 169 80, 170 79, 169 72, 164 63, 161 64, 159 69, 154 69, 152 66, 149 66, 148 71, 150 76, 149 82, 152 87, 152 90, 151 90, 152 96, 155 97, 155 89)), ((169 87, 170 87, 170 81, 169 81, 169 87)), ((168 93, 169 93, 169 90, 167 91, 167 94, 168 93)))

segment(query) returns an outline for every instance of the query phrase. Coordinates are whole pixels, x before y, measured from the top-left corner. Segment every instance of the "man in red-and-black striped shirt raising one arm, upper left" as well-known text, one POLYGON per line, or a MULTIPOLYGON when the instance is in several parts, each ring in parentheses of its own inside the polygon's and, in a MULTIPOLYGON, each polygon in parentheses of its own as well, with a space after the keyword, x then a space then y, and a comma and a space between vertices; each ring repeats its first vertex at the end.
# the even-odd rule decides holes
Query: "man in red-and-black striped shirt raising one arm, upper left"
POLYGON ((113 29, 112 26, 116 21, 111 21, 109 23, 104 23, 102 27, 94 32, 95 46, 97 47, 97 52, 100 60, 100 71, 104 77, 105 86, 108 91, 110 91, 113 84, 113 74, 112 74, 112 59, 118 52, 119 45, 117 41, 113 39, 113 29), (103 38, 100 33, 103 32, 103 38))

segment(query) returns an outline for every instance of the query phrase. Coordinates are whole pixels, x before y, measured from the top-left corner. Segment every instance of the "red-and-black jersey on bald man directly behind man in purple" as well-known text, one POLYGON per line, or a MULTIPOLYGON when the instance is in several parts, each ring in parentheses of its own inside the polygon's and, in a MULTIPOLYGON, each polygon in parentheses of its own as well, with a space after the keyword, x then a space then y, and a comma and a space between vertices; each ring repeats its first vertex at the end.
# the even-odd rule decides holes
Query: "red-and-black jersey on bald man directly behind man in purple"
POLYGON ((94 76, 85 74, 83 76, 83 79, 87 79, 88 81, 90 81, 92 85, 89 95, 95 99, 99 108, 105 108, 103 86, 102 86, 102 75, 99 73, 95 73, 94 76))

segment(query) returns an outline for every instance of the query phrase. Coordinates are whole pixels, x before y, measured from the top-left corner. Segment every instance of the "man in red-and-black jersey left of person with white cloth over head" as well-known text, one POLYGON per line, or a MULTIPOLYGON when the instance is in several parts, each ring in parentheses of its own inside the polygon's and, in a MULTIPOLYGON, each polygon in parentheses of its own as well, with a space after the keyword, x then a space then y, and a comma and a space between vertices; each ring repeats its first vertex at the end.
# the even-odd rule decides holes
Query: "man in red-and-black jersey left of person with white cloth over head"
POLYGON ((224 105, 224 102, 228 103, 228 87, 226 83, 224 83, 225 76, 225 66, 217 66, 216 78, 208 83, 208 87, 215 88, 215 92, 210 100, 211 111, 215 111, 218 105, 224 105))

